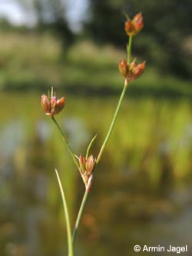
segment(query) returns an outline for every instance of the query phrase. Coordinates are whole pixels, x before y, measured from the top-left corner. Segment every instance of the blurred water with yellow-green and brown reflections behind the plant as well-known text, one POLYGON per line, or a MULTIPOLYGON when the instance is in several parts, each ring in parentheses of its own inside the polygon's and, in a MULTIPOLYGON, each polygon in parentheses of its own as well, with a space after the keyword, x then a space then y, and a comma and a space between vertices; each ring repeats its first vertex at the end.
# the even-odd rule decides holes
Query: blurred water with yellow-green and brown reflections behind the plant
MULTIPOLYGON (((67 254, 54 168, 65 185, 72 221, 84 185, 41 111, 39 95, 25 95, 25 108, 24 95, 1 97, 1 108, 8 100, 15 108, 6 108, 0 121, 0 255, 67 254)), ((92 148, 97 155, 116 101, 68 95, 58 121, 77 155, 98 134, 92 148)), ((188 244, 190 255, 191 152, 189 102, 126 99, 95 175, 76 254, 136 255, 135 244, 188 244)))

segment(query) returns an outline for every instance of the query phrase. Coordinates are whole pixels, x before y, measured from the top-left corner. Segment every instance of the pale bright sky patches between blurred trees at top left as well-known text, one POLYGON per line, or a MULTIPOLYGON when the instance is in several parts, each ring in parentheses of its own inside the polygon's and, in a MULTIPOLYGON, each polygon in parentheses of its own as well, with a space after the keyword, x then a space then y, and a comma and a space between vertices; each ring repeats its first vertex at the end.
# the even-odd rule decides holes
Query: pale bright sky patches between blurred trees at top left
MULTIPOLYGON (((28 0, 29 3, 31 0, 28 0)), ((66 0, 65 0, 66 1, 66 0)), ((71 28, 78 30, 81 28, 81 20, 88 7, 88 0, 68 0, 67 18, 71 28)), ((0 0, 0 17, 8 18, 13 25, 35 25, 36 18, 33 12, 25 12, 24 8, 16 0, 0 0)))

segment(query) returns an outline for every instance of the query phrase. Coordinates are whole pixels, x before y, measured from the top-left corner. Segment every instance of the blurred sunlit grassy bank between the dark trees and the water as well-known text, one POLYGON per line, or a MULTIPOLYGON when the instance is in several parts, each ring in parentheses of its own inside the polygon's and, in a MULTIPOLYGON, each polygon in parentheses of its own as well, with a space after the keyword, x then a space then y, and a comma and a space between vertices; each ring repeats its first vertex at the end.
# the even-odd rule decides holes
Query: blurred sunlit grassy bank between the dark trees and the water
MULTIPOLYGON (((124 79, 118 62, 126 52, 111 45, 76 42, 69 49, 49 34, 0 34, 0 89, 37 89, 51 85, 65 91, 106 95, 121 91, 124 79)), ((126 45, 126 42, 125 42, 126 45)), ((139 60, 140 61, 140 60, 139 60)), ((143 60, 141 60, 143 61, 143 60)), ((192 97, 189 81, 167 75, 147 62, 142 78, 134 81, 130 95, 192 97)))

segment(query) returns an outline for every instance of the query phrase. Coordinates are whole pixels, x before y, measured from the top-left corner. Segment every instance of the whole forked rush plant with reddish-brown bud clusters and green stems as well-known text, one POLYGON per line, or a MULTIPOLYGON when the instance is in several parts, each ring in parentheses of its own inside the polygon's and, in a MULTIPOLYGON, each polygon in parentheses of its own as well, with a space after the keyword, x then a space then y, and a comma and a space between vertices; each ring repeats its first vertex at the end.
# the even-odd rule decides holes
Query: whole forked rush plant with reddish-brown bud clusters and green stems
POLYGON ((68 237, 68 256, 74 255, 74 250, 73 250, 74 241, 75 241, 76 234, 78 231, 79 223, 81 221, 81 215, 84 211, 84 205, 88 198, 88 194, 90 194, 91 185, 92 185, 92 181, 94 179, 94 174, 96 173, 96 170, 97 170, 97 166, 98 166, 99 161, 101 160, 101 157, 104 153, 104 149, 106 148, 106 146, 108 144, 108 140, 111 137, 111 132, 113 131, 115 122, 117 120, 118 112, 121 108, 121 103, 124 99, 124 95, 125 95, 125 92, 127 91, 127 87, 130 84, 130 82, 139 78, 143 74, 144 68, 145 68, 145 62, 137 64, 136 59, 132 60, 132 58, 131 58, 131 46, 132 46, 133 38, 135 35, 137 35, 138 32, 141 31, 141 29, 144 26, 143 17, 141 15, 141 13, 138 13, 137 15, 135 15, 132 20, 130 18, 128 18, 127 15, 126 15, 126 17, 127 17, 127 21, 125 22, 124 30, 129 38, 128 43, 127 43, 127 60, 122 59, 119 62, 119 71, 120 71, 121 75, 123 75, 123 77, 124 77, 124 86, 123 86, 120 98, 118 100, 117 108, 114 111, 114 116, 112 118, 111 125, 109 126, 108 133, 107 133, 106 137, 104 138, 104 142, 101 145, 101 149, 98 152, 97 156, 93 156, 90 154, 91 145, 94 143, 96 136, 94 136, 94 138, 92 138, 90 144, 88 145, 86 155, 79 155, 79 156, 75 155, 74 151, 72 150, 71 146, 69 145, 64 131, 61 130, 60 125, 58 125, 58 122, 55 119, 55 115, 57 115, 59 112, 61 112, 62 109, 65 107, 65 98, 62 97, 62 98, 58 99, 55 95, 53 88, 51 88, 51 95, 49 93, 48 93, 48 95, 41 95, 41 106, 42 106, 43 110, 45 111, 45 114, 51 118, 51 120, 54 122, 56 128, 60 132, 61 138, 64 141, 66 147, 68 148, 68 152, 71 155, 72 160, 74 161, 74 165, 76 166, 76 168, 78 169, 78 171, 81 175, 81 178, 82 178, 82 181, 84 182, 84 187, 85 187, 84 196, 82 198, 81 206, 79 208, 79 211, 77 214, 77 219, 75 221, 74 229, 72 232, 71 221, 70 221, 69 214, 68 214, 67 200, 65 198, 64 189, 61 185, 60 176, 58 174, 58 171, 55 169, 56 177, 58 179, 58 185, 59 185, 59 188, 61 191, 63 208, 64 208, 64 212, 65 212, 65 221, 66 221, 66 229, 67 229, 67 237, 68 237))

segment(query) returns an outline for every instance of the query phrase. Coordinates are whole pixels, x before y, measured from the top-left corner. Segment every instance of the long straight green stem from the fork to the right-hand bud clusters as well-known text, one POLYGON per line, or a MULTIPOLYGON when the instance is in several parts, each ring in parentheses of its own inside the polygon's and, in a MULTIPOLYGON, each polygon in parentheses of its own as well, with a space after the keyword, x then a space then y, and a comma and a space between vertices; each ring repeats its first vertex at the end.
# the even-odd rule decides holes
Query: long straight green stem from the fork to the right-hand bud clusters
POLYGON ((113 117, 113 119, 112 119, 112 121, 111 121, 111 125, 110 125, 110 127, 109 127, 108 134, 107 134, 107 136, 105 137, 104 143, 103 143, 103 145, 101 146, 101 149, 100 149, 100 151, 99 151, 98 158, 96 159, 96 164, 98 164, 98 162, 100 161, 101 155, 103 154, 103 151, 104 151, 104 148, 106 147, 106 145, 107 145, 107 143, 108 143, 108 140, 109 140, 109 138, 110 138, 110 136, 111 136, 111 132, 112 132, 112 130, 113 130, 113 128, 114 128, 115 121, 116 121, 116 119, 117 119, 117 117, 118 117, 118 112, 119 112, 119 109, 120 109, 120 107, 121 107, 121 103, 122 103, 122 101, 123 101, 124 94, 125 94, 125 92, 126 92, 126 90, 127 90, 127 85, 128 85, 128 84, 127 84, 127 80, 125 80, 125 82, 124 82, 124 88, 123 88, 123 91, 121 92, 121 97, 119 98, 119 101, 118 101, 118 106, 117 106, 117 108, 116 108, 116 110, 115 110, 115 112, 114 112, 114 117, 113 117))

